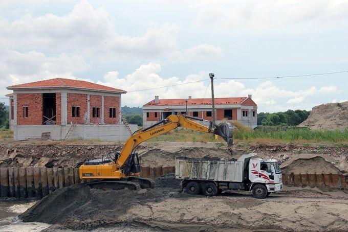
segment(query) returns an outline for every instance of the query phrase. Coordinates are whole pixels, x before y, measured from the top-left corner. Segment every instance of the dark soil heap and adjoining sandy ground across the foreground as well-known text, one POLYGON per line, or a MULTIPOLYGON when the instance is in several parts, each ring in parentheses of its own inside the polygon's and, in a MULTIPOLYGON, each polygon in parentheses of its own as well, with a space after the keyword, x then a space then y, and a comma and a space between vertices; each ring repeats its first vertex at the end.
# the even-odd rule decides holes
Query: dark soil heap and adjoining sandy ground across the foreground
POLYGON ((102 191, 74 185, 43 198, 20 218, 54 224, 48 231, 116 224, 170 231, 348 230, 347 195, 289 190, 258 200, 238 193, 192 196, 179 187, 173 175, 156 179, 151 190, 102 191))

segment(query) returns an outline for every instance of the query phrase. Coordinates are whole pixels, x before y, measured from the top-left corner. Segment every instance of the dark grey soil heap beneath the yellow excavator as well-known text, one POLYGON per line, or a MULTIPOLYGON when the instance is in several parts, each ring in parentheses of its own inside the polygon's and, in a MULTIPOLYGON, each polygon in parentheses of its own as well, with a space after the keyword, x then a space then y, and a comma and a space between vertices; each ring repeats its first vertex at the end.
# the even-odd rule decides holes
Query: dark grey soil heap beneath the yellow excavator
POLYGON ((181 191, 180 181, 173 174, 157 178, 155 184, 155 189, 139 191, 103 191, 76 184, 42 198, 19 217, 24 222, 61 224, 70 229, 123 223, 132 220, 126 217, 130 207, 151 201, 159 202, 181 191))

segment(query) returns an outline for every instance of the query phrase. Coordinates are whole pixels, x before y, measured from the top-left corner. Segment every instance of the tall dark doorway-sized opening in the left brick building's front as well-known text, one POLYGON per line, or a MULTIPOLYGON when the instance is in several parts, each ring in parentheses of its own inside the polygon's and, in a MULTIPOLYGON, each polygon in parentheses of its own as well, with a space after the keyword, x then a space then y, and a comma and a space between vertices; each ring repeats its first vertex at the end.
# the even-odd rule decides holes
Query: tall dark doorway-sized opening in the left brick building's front
POLYGON ((42 94, 42 124, 56 124, 56 94, 42 94))

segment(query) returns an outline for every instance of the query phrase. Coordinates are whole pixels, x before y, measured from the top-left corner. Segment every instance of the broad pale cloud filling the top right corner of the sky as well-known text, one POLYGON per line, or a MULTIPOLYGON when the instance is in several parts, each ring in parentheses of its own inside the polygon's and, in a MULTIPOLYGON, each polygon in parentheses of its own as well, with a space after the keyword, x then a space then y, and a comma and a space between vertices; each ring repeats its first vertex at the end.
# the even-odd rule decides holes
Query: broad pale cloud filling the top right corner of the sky
POLYGON ((221 0, 205 1, 196 8, 198 25, 242 30, 314 30, 348 19, 348 2, 341 0, 221 0))

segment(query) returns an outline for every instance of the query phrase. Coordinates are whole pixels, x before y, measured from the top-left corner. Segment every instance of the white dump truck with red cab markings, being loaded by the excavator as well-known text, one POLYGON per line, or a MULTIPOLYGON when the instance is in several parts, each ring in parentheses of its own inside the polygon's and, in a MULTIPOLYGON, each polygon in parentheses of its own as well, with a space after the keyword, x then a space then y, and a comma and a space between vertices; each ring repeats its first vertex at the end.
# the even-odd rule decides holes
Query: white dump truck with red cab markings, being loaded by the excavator
POLYGON ((189 194, 215 196, 222 191, 249 191, 255 198, 265 198, 282 189, 281 170, 275 159, 185 158, 175 160, 175 175, 189 194))

